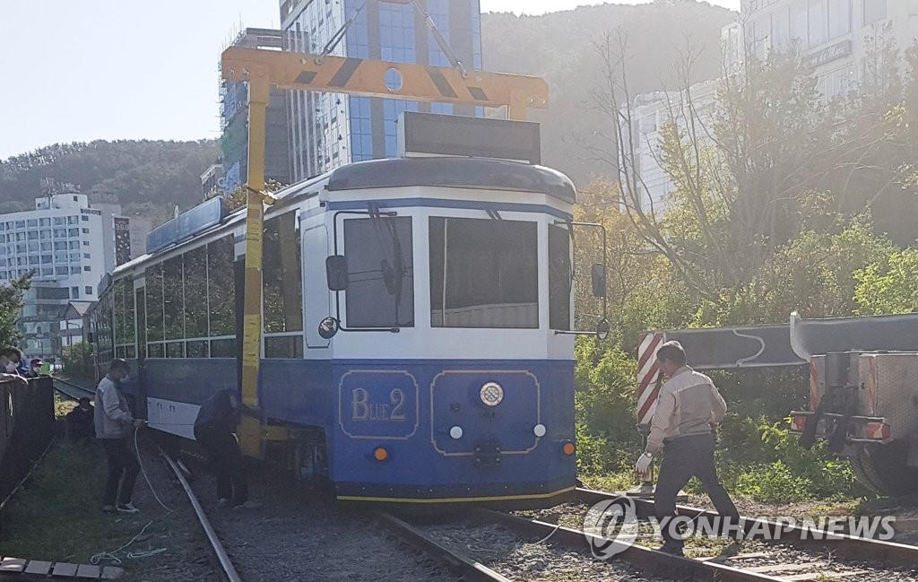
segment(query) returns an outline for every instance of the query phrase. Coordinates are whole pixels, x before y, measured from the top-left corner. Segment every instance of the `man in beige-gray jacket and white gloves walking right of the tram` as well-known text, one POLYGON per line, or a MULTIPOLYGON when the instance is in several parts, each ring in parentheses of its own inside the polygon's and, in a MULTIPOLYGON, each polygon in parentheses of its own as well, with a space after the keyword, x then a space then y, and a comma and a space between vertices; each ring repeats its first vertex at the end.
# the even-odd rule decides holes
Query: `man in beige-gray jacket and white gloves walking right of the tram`
POLYGON ((666 341, 660 346, 656 360, 669 379, 660 390, 647 447, 635 468, 645 474, 663 447, 654 499, 664 540, 660 549, 681 555, 684 541, 679 532, 671 531, 669 522, 676 517, 679 489, 692 476, 699 478, 717 512, 734 526, 739 523, 739 513, 721 485, 714 464, 713 430, 723 419, 727 405, 711 378, 686 365, 686 353, 678 341, 666 341))

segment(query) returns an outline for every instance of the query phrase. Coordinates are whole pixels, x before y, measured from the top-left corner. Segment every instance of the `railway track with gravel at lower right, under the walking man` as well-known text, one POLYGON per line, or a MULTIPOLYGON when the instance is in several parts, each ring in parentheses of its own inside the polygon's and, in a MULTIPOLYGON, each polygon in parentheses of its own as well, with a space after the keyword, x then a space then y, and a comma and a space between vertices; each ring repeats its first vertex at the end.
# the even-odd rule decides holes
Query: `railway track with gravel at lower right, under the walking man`
MULTIPOLYGON (((589 489, 580 489, 577 495, 581 501, 589 505, 618 497, 589 489)), ((641 499, 634 501, 639 519, 652 515, 652 502, 641 499)), ((681 506, 679 510, 680 514, 689 516, 711 515, 711 512, 685 506, 681 506)), ((412 525, 388 514, 381 514, 378 519, 406 542, 451 565, 453 572, 470 580, 543 577, 599 580, 620 579, 626 576, 630 576, 627 579, 647 576, 654 579, 699 582, 918 579, 918 547, 829 532, 821 532, 821 539, 814 538, 812 530, 809 536, 804 536, 802 528, 790 527, 788 524, 784 524, 780 529, 781 534, 774 541, 749 542, 749 545, 744 543, 744 553, 741 554, 727 554, 713 559, 686 558, 632 544, 624 547, 613 558, 600 561, 593 557, 593 548, 604 547, 611 543, 611 540, 601 535, 588 535, 581 528, 564 527, 509 513, 476 509, 465 512, 459 523, 439 524, 433 527, 412 525), (543 549, 539 555, 544 557, 554 552, 554 558, 549 557, 530 570, 530 573, 521 572, 519 565, 509 564, 512 562, 510 554, 515 554, 515 551, 495 551, 487 547, 489 542, 481 542, 493 539, 493 534, 488 533, 488 528, 490 531, 499 529, 501 532, 511 532, 514 538, 509 544, 511 547, 551 546, 551 550, 543 549), (460 535, 452 535, 453 532, 459 531, 462 532, 460 535), (532 540, 539 541, 533 543, 532 540), (486 547, 482 548, 482 545, 486 547), (753 551, 749 551, 750 546, 753 551), (472 548, 472 551, 465 552, 456 549, 457 547, 472 548), (568 553, 567 556, 562 554, 565 551, 568 553), (564 569, 565 559, 566 564, 570 564, 570 553, 578 554, 573 576, 571 568, 564 569), (625 565, 630 566, 630 572, 624 570, 625 565)), ((756 527, 756 521, 766 524, 773 532, 777 531, 777 521, 754 519, 744 520, 745 531, 752 532, 756 527)), ((527 550, 523 554, 535 555, 527 554, 530 552, 532 550, 527 550)))

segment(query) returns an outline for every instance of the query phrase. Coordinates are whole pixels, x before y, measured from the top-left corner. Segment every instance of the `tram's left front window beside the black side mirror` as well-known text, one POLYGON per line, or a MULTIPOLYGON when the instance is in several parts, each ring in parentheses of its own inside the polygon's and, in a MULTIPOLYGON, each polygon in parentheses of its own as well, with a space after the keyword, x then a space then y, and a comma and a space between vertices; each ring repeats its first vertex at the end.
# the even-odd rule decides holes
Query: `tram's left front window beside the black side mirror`
POLYGON ((344 220, 347 326, 414 327, 411 218, 344 220))

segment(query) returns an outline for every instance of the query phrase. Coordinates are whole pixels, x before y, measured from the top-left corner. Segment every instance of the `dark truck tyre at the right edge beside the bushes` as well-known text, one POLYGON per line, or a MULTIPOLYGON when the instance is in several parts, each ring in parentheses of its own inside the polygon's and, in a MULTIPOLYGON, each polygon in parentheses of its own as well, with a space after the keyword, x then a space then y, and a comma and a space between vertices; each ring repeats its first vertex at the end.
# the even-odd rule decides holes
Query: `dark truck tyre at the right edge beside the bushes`
POLYGON ((909 444, 858 444, 851 457, 857 481, 879 495, 898 497, 918 492, 918 467, 906 465, 909 444))

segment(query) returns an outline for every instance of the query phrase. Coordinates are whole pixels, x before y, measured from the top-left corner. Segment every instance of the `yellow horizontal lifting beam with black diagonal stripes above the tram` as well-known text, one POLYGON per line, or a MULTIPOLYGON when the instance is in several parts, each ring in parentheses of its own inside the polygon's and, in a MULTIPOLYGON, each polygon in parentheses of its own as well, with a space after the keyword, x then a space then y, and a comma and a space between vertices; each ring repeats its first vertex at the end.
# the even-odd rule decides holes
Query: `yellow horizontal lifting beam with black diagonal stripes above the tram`
POLYGON ((525 119, 527 107, 548 107, 548 84, 540 77, 469 71, 411 62, 230 47, 223 51, 223 78, 261 79, 282 89, 346 93, 465 106, 508 106, 508 117, 525 119), (399 83, 386 84, 397 79, 399 83))

